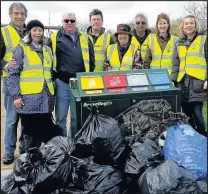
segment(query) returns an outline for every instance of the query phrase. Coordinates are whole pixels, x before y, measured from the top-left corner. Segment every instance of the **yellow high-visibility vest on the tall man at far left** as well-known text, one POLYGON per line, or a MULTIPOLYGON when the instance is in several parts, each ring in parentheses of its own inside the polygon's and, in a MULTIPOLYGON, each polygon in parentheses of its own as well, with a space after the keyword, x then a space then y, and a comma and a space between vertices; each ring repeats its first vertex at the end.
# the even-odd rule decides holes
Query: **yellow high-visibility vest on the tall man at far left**
MULTIPOLYGON (((2 37, 4 40, 4 44, 6 47, 6 52, 3 60, 6 62, 11 61, 13 56, 13 49, 18 45, 21 40, 20 35, 11 25, 5 26, 1 28, 2 37)), ((8 73, 3 70, 3 77, 7 77, 8 73)))

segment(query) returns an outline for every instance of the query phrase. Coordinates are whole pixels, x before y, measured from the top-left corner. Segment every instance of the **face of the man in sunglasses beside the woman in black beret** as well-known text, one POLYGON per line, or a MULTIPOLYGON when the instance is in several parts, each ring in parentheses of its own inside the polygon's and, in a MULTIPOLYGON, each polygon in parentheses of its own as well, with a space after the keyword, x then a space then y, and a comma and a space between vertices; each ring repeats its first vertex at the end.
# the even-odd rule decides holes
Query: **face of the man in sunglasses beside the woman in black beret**
POLYGON ((64 15, 62 25, 66 33, 73 34, 76 30, 76 18, 73 15, 64 15))

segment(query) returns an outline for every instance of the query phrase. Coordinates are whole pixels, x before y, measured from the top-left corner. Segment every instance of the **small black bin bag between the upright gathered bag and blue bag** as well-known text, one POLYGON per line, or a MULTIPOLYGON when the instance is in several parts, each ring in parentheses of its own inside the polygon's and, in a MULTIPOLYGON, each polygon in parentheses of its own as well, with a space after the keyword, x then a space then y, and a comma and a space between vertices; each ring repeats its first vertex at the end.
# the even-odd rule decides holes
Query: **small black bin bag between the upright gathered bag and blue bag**
POLYGON ((137 180, 140 175, 151 165, 163 160, 161 150, 157 144, 149 139, 132 136, 126 138, 131 152, 126 158, 124 181, 127 193, 137 193, 137 180))

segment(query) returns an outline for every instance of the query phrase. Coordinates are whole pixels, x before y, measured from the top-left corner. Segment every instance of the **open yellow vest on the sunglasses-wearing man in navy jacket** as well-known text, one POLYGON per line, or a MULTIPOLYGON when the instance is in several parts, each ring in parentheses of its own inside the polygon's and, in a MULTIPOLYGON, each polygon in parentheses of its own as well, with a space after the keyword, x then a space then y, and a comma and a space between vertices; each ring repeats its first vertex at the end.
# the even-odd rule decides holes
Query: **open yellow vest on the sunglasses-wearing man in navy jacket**
MULTIPOLYGON (((56 56, 56 42, 57 42, 57 34, 54 33, 51 35, 51 42, 52 42, 52 51, 53 51, 53 69, 56 69, 57 66, 57 56, 56 56)), ((90 56, 89 56, 89 47, 88 47, 88 36, 80 32, 80 46, 82 51, 82 57, 85 65, 85 71, 90 71, 90 56)))

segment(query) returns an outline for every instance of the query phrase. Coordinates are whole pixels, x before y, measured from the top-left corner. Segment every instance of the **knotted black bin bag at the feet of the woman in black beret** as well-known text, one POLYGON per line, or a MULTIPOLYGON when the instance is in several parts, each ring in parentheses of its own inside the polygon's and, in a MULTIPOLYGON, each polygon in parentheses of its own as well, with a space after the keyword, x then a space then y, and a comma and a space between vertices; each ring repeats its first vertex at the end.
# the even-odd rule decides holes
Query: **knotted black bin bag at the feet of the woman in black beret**
POLYGON ((14 180, 24 193, 51 193, 70 179, 71 159, 64 137, 22 154, 14 166, 14 180))

